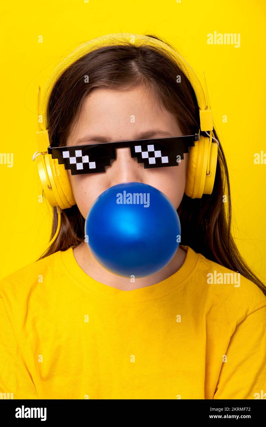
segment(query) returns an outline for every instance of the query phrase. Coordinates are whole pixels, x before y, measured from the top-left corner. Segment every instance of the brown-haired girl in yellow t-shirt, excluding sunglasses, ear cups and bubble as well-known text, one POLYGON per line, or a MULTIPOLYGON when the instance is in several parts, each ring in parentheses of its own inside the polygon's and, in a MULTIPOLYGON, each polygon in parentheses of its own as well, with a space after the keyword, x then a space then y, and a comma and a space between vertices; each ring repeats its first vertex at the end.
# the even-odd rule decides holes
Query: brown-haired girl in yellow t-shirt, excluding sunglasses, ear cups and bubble
MULTIPOLYGON (((71 56, 64 65, 45 105, 46 147, 198 133, 196 94, 164 49, 170 45, 162 41, 159 49, 160 39, 152 35, 142 36, 142 44, 130 37, 126 34, 121 43, 112 35, 113 44, 99 43, 82 55, 77 49, 75 61, 71 56), (152 41, 157 44, 152 46, 152 41)), ((213 135, 218 143, 214 129, 213 135)), ((3 395, 266 396, 266 288, 231 236, 230 187, 221 144, 211 195, 191 198, 185 193, 188 159, 184 154, 178 167, 145 169, 127 147, 116 150, 105 173, 72 175, 67 170, 69 205, 62 211, 53 208, 49 248, 35 263, 0 282, 3 395), (133 283, 104 269, 84 241, 85 218, 97 196, 131 181, 161 190, 181 221, 181 244, 172 260, 133 283)))

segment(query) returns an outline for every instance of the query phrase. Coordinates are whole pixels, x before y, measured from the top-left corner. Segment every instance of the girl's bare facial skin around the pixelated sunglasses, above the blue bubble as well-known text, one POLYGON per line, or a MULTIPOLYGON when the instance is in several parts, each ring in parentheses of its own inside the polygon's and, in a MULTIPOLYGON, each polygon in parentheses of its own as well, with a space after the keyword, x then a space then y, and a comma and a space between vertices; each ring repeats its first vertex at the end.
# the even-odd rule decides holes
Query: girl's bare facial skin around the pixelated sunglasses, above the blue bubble
MULTIPOLYGON (((79 120, 71 129, 67 145, 181 136, 175 116, 158 106, 146 88, 129 91, 96 88, 85 99, 79 120), (133 120, 132 120, 133 117, 133 120), (133 122, 133 123, 132 123, 133 122), (88 135, 88 139, 77 140, 88 135), (94 138, 101 138, 101 140, 94 138)), ((71 175, 73 195, 86 218, 94 200, 109 187, 123 182, 142 182, 164 193, 177 209, 184 195, 187 154, 178 166, 144 169, 132 158, 130 148, 117 148, 116 159, 103 173, 71 175)))

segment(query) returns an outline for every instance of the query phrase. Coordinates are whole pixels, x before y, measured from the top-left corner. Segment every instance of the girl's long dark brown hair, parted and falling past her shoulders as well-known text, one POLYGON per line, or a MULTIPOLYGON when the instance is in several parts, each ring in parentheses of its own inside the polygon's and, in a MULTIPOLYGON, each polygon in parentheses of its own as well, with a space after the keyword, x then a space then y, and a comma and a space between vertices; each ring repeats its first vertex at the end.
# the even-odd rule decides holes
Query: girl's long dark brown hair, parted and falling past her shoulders
MULTIPOLYGON (((153 35, 147 36, 164 41, 153 35)), ((78 120, 82 103, 94 88, 123 91, 138 85, 145 85, 159 105, 164 105, 175 115, 183 135, 198 132, 199 108, 193 87, 172 55, 161 48, 148 45, 138 47, 125 41, 123 45, 100 47, 87 53, 60 76, 48 103, 50 144, 66 144, 70 129, 78 120), (176 84, 178 75, 181 76, 181 83, 176 84), (88 83, 85 83, 85 76, 89 76, 88 83)), ((219 140, 215 129, 213 134, 219 140)), ((230 185, 220 141, 212 194, 203 195, 201 199, 191 199, 184 194, 177 211, 181 221, 182 245, 190 246, 209 260, 239 272, 266 295, 266 287, 245 263, 231 235, 230 185), (224 195, 227 196, 227 203, 223 202, 224 195)), ((57 224, 57 211, 53 208, 51 239, 56 233, 57 224)), ((85 219, 77 205, 64 209, 56 240, 38 259, 84 242, 84 228, 85 219)))

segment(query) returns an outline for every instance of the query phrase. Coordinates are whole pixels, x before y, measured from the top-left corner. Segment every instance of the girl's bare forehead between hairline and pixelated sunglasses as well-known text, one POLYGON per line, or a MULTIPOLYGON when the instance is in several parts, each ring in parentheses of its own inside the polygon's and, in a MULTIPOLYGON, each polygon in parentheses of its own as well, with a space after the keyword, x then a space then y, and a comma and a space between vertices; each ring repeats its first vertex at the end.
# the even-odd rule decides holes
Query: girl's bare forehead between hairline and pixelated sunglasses
POLYGON ((82 103, 70 137, 81 137, 89 129, 90 133, 106 134, 113 140, 134 139, 135 133, 147 127, 170 129, 173 135, 179 131, 175 116, 144 86, 124 91, 96 88, 82 103))

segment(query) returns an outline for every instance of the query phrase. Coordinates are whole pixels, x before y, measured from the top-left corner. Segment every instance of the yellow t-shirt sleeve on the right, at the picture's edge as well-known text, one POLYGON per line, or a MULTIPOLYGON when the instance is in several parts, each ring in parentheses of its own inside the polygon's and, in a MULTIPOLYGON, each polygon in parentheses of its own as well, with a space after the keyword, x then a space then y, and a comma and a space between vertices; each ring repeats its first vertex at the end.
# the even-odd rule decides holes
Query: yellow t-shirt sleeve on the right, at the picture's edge
POLYGON ((237 325, 225 360, 213 399, 266 398, 266 305, 237 325))

